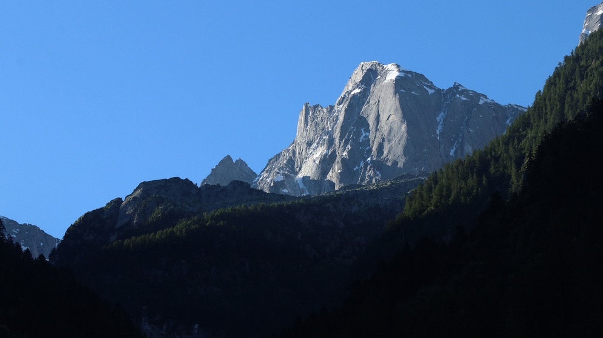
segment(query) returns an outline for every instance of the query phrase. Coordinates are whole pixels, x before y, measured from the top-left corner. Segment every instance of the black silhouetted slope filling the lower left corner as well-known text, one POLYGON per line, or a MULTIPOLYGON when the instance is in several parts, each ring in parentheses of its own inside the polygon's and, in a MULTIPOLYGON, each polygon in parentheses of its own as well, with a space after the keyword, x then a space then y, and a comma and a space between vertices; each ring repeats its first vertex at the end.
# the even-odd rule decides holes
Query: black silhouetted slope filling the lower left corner
POLYGON ((0 266, 0 337, 142 337, 121 309, 2 231, 0 266))

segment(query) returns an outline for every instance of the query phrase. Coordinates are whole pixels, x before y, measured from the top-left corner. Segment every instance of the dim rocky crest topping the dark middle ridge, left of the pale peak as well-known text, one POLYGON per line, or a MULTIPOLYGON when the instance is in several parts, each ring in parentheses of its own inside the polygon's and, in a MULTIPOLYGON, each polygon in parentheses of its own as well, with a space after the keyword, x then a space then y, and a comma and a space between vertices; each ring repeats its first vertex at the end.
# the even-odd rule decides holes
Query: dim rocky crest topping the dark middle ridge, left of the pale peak
POLYGON ((226 186, 200 187, 179 177, 142 182, 124 199, 115 198, 75 221, 65 232, 57 254, 77 257, 78 251, 87 247, 154 232, 174 225, 181 218, 214 209, 294 199, 252 189, 249 183, 238 180, 226 186))

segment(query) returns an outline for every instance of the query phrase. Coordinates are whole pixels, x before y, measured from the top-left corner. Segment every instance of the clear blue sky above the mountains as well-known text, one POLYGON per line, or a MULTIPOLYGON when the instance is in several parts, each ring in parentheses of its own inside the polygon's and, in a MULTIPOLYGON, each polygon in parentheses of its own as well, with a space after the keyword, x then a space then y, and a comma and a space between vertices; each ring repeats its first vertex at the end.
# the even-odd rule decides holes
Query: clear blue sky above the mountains
POLYGON ((361 61, 530 105, 598 1, 2 1, 0 215, 53 236, 145 180, 259 172, 361 61))

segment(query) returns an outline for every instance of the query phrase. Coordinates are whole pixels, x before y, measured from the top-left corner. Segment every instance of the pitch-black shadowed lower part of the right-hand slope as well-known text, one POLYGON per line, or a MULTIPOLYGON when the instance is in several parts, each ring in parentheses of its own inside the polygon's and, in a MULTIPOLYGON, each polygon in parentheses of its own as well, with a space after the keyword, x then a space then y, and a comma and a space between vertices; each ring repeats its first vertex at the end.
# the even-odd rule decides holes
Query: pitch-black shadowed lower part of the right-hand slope
POLYGON ((602 128, 599 100, 543 136, 522 191, 491 194, 472 232, 405 245, 343 306, 280 336, 600 337, 602 128))

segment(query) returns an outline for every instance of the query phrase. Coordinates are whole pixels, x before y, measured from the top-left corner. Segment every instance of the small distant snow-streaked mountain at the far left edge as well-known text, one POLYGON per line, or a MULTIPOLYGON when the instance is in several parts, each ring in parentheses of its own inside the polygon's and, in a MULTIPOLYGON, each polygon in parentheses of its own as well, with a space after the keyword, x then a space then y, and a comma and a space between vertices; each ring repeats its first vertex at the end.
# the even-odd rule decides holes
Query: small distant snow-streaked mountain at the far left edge
POLYGON ((31 256, 34 258, 40 254, 48 257, 52 249, 56 248, 61 242, 60 239, 48 235, 44 230, 33 224, 19 224, 17 221, 4 216, 0 216, 0 219, 6 228, 6 235, 10 236, 13 242, 21 244, 23 250, 29 249, 31 256))

